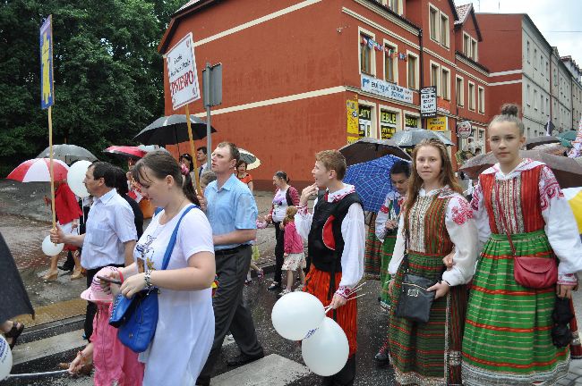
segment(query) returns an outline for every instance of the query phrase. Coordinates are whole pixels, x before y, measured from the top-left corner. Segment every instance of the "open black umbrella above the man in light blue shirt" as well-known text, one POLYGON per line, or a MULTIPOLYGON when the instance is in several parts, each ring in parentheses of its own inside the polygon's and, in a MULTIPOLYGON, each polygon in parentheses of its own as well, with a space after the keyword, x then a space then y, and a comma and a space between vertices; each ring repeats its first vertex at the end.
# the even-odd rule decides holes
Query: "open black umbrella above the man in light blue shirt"
MULTIPOLYGON (((206 137, 206 122, 193 115, 190 115, 193 139, 206 137)), ((211 132, 216 132, 211 128, 211 132)), ((176 145, 180 142, 190 140, 188 137, 188 125, 184 114, 174 114, 158 118, 147 128, 140 131, 133 137, 136 141, 144 145, 176 145)))

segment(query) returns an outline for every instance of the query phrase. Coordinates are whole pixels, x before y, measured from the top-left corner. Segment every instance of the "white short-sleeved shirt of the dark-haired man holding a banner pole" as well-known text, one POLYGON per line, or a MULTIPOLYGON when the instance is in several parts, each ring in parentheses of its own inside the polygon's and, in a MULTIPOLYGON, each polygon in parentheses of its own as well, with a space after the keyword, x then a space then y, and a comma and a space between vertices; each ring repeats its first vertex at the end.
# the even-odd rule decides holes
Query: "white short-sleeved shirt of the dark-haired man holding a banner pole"
POLYGON ((124 243, 137 239, 132 207, 111 189, 95 197, 87 216, 81 265, 94 269, 109 264, 124 264, 124 243))

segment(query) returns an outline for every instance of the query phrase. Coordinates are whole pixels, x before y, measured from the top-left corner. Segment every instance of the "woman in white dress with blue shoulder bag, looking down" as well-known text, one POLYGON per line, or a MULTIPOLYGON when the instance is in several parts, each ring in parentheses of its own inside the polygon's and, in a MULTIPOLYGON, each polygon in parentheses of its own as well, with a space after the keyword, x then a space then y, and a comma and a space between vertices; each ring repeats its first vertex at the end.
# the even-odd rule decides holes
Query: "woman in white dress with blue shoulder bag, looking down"
POLYGON ((183 176, 166 152, 149 153, 135 164, 132 173, 144 197, 164 208, 138 241, 135 263, 119 271, 123 275, 121 292, 127 298, 149 286, 160 291, 156 335, 139 357, 145 363, 143 384, 194 385, 214 339, 210 286, 215 265, 210 223, 198 207, 185 214, 167 270, 161 271, 178 220, 198 200, 188 171, 183 176))

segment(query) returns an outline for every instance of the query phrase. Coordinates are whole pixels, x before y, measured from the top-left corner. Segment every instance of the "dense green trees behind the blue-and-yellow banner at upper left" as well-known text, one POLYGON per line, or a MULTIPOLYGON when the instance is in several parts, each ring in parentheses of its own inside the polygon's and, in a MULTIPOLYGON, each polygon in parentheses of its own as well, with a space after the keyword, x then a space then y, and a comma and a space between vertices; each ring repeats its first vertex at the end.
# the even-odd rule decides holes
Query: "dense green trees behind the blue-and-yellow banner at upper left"
MULTIPOLYGON (((185 0, 184 0, 185 1, 185 0)), ((4 0, 0 5, 0 164, 48 146, 40 109, 39 28, 53 15, 53 141, 98 157, 164 112, 158 43, 184 1, 4 0)), ((2 174, 2 176, 4 176, 2 174)))

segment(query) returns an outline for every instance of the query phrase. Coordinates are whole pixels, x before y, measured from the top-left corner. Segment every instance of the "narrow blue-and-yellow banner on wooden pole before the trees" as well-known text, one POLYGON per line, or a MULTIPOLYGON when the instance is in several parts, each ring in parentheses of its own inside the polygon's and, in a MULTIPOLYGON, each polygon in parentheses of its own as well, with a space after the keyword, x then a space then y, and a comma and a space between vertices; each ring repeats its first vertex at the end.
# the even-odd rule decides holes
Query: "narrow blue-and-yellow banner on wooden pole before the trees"
POLYGON ((40 106, 47 109, 55 104, 53 86, 53 15, 40 27, 40 106))

